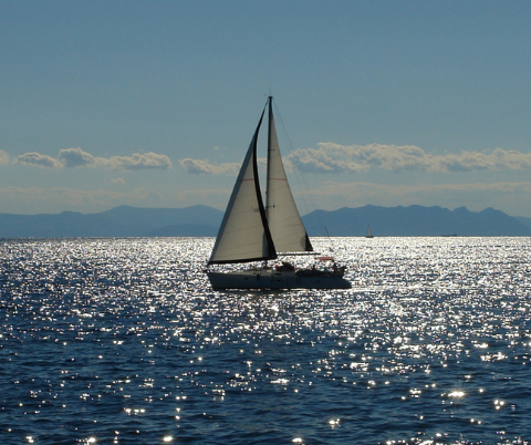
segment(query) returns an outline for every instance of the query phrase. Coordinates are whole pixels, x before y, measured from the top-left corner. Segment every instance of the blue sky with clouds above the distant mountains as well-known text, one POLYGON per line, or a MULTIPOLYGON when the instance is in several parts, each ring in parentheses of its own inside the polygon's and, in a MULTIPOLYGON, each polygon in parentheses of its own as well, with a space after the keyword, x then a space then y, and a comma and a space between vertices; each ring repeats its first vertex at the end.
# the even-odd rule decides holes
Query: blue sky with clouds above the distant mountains
POLYGON ((530 22, 528 0, 3 0, 0 213, 222 210, 272 94, 303 215, 531 217, 530 22))

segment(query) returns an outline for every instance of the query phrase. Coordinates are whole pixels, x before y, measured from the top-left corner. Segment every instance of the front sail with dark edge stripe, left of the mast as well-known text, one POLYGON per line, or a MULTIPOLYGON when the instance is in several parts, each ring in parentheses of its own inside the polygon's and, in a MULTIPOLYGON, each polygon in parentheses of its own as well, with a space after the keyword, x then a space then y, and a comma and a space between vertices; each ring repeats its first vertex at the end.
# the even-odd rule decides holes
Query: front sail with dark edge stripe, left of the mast
POLYGON ((258 184, 257 139, 263 113, 230 196, 209 263, 277 258, 258 184))

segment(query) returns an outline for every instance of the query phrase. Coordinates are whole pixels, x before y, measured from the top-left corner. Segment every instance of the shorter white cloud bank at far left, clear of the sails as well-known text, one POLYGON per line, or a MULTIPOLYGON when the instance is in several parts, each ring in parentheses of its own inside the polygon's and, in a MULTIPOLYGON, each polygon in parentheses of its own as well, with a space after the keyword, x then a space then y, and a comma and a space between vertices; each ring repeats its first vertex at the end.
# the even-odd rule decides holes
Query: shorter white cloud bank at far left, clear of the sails
MULTIPOLYGON (((96 157, 81 148, 60 149, 56 158, 40 153, 25 153, 17 156, 13 163, 46 168, 102 167, 113 170, 171 168, 171 161, 168 156, 153 152, 134 153, 131 156, 96 157)), ((2 164, 1 152, 0 164, 2 164)))

